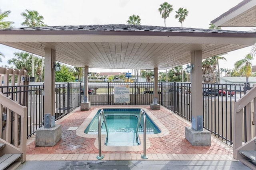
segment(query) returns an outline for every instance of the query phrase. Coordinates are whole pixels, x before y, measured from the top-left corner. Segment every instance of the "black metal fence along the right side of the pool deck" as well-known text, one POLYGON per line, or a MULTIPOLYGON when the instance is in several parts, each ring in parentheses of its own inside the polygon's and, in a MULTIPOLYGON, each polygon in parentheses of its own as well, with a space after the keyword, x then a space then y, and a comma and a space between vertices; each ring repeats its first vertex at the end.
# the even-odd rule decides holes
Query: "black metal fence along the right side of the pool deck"
MULTIPOLYGON (((163 82, 162 106, 191 121, 191 83, 163 82)), ((234 84, 203 84, 204 128, 232 145, 234 102, 244 95, 242 86, 234 84)))

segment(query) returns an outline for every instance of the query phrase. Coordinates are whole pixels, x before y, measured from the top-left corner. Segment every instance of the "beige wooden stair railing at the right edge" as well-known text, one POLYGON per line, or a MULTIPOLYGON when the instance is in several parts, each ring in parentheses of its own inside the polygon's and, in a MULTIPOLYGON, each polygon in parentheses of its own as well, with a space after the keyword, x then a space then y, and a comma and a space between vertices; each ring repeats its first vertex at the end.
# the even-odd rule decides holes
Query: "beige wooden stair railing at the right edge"
POLYGON ((234 158, 239 160, 242 155, 238 153, 239 150, 256 150, 256 125, 254 125, 254 133, 252 133, 252 122, 256 123, 256 116, 252 114, 251 102, 253 100, 254 113, 256 108, 256 86, 242 96, 234 103, 234 158), (252 116, 253 115, 253 116, 252 116), (253 117, 253 120, 252 120, 253 117), (246 129, 243 135, 243 130, 246 129), (243 143, 243 136, 244 141, 243 143))

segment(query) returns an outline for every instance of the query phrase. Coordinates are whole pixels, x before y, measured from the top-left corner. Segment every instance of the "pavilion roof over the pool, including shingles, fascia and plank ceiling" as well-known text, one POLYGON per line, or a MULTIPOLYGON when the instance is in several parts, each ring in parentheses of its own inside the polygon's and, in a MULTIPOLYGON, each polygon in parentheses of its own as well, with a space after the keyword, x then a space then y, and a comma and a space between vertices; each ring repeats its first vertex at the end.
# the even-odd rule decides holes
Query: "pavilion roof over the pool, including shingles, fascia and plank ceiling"
POLYGON ((0 43, 76 67, 159 70, 190 63, 191 51, 212 57, 256 43, 256 33, 149 25, 80 25, 0 30, 0 43))

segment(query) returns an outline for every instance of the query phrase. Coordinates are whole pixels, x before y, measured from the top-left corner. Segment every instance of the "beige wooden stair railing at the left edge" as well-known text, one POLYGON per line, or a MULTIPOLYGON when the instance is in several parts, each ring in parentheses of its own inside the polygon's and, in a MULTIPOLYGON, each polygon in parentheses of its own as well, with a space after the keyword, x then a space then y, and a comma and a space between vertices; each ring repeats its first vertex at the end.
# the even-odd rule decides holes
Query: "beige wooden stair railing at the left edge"
POLYGON ((21 106, 0 93, 0 127, 5 127, 4 134, 2 130, 0 131, 0 143, 6 144, 6 147, 2 151, 8 154, 21 153, 22 162, 26 160, 26 126, 27 107, 21 106), (6 114, 6 121, 2 120, 4 114, 6 114), (3 123, 6 125, 3 125, 3 123), (12 141, 11 135, 13 135, 12 141))

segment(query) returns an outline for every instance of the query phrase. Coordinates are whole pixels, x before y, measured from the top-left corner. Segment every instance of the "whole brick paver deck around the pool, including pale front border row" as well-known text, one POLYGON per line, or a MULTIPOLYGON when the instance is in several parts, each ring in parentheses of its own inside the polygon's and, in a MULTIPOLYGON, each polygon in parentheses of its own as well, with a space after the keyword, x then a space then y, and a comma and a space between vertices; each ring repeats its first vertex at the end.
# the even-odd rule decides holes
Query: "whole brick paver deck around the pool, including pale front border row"
MULTIPOLYGON (((54 147, 35 147, 35 137, 27 141, 27 160, 97 160, 98 139, 92 137, 81 137, 76 130, 68 130, 70 127, 79 127, 85 119, 95 111, 104 106, 92 106, 89 111, 76 109, 66 115, 57 124, 62 126, 62 138, 54 147)), ((115 106, 106 106, 113 108, 115 106)), ((106 108, 104 107, 104 108, 106 108)), ((195 147, 185 139, 185 127, 191 123, 172 111, 161 106, 161 110, 151 110, 150 106, 118 106, 136 107, 148 110, 154 115, 153 121, 160 121, 169 133, 159 137, 148 137, 150 144, 146 154, 148 160, 234 160, 232 147, 226 145, 216 137, 212 136, 210 147, 195 147)), ((147 112, 147 111, 146 111, 147 112)), ((71 128, 72 129, 72 128, 71 128)), ((160 127, 162 130, 162 128, 160 127)), ((104 143, 102 143, 104 145, 104 143)), ((143 148, 143 143, 141 144, 143 148)), ((105 146, 106 148, 107 146, 105 146)), ((104 150, 104 160, 142 160, 143 150, 104 150)))

